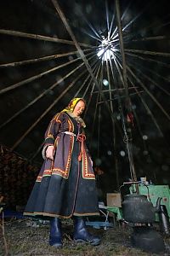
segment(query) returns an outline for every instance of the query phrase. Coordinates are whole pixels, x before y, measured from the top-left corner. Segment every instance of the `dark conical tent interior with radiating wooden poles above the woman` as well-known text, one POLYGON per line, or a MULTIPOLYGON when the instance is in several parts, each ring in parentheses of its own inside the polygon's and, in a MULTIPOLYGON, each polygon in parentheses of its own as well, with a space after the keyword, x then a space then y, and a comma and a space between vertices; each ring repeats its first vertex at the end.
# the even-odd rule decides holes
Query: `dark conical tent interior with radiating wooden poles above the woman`
POLYGON ((104 171, 101 187, 110 192, 117 178, 119 185, 131 178, 126 132, 137 178, 170 183, 169 1, 120 1, 127 94, 116 2, 58 3, 97 84, 52 1, 0 1, 0 143, 41 165, 48 122, 72 97, 83 96, 88 148, 94 166, 104 171), (115 49, 111 62, 97 56, 108 31, 115 49), (133 122, 127 120, 127 96, 133 122))

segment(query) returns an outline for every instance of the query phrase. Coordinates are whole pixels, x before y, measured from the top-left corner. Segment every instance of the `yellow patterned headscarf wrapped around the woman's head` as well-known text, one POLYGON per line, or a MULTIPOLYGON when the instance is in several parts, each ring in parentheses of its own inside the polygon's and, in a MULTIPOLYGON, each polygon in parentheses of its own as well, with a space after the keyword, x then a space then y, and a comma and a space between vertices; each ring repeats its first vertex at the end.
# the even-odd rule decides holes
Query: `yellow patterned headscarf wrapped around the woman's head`
POLYGON ((81 125, 85 128, 86 125, 83 121, 83 119, 81 117, 76 117, 74 114, 73 114, 73 111, 74 111, 74 108, 76 107, 77 103, 79 101, 82 101, 84 102, 85 106, 86 106, 86 102, 83 98, 73 98, 71 100, 71 102, 69 102, 68 106, 66 108, 64 108, 61 112, 66 112, 66 113, 69 113, 71 115, 71 117, 73 117, 74 119, 77 120, 77 122, 80 122, 81 125))

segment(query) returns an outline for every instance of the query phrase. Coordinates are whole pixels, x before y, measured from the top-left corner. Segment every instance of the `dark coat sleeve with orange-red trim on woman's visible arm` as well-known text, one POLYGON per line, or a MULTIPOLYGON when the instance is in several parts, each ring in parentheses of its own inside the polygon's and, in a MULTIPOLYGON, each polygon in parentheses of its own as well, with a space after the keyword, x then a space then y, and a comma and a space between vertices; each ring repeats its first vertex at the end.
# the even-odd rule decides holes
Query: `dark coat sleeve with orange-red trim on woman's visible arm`
POLYGON ((54 145, 57 134, 59 133, 60 125, 63 121, 63 113, 57 113, 54 118, 50 121, 48 129, 45 132, 45 141, 42 148, 42 158, 46 159, 45 152, 48 146, 54 145))

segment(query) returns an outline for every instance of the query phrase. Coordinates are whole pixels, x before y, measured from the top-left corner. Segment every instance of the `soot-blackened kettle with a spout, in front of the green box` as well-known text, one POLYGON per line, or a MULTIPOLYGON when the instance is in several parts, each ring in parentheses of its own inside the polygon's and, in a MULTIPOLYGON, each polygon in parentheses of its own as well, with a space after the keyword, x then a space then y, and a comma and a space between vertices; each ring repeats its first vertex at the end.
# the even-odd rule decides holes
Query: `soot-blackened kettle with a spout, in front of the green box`
POLYGON ((153 223, 155 213, 159 210, 160 201, 153 207, 147 200, 146 195, 125 195, 122 201, 122 215, 127 222, 131 223, 153 223))

